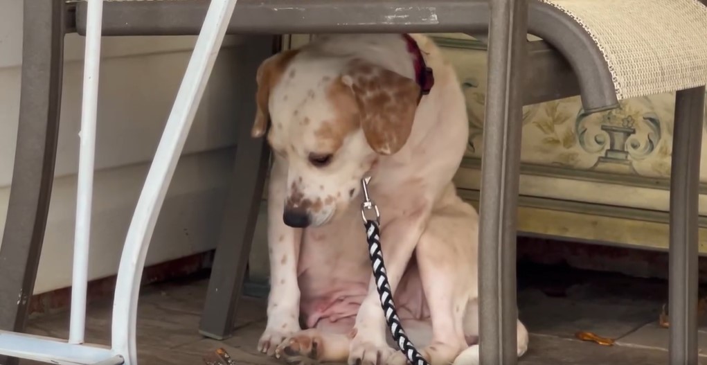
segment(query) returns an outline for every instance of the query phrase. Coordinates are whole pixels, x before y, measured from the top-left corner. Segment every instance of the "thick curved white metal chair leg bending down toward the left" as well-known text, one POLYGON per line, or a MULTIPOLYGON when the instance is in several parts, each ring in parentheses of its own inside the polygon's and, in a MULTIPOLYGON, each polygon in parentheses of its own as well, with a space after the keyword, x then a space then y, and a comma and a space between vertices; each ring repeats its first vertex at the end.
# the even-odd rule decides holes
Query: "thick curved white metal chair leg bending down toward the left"
POLYGON ((113 304, 112 348, 127 365, 137 364, 137 303, 145 255, 235 4, 211 0, 125 239, 113 304))

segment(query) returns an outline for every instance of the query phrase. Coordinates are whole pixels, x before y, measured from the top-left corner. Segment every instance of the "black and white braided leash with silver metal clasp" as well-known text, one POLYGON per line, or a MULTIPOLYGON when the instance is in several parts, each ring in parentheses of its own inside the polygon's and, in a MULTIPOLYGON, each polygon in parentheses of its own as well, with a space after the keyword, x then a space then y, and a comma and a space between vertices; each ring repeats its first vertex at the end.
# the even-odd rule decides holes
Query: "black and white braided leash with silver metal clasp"
POLYGON ((366 226, 368 256, 373 267, 373 277, 375 279, 375 287, 378 289, 380 306, 383 308, 385 321, 388 324, 388 328, 390 328, 390 334, 398 345, 400 352, 407 357, 409 364, 429 365, 405 334, 405 330, 400 324, 400 318, 398 318, 395 311, 392 290, 390 289, 390 284, 388 284, 388 275, 385 272, 385 261, 383 260, 382 250, 380 250, 380 212, 378 211, 378 206, 368 196, 369 181, 370 177, 361 180, 364 199, 363 204, 361 204, 361 218, 363 218, 363 224, 366 226), (375 212, 375 218, 368 219, 366 212, 375 212))

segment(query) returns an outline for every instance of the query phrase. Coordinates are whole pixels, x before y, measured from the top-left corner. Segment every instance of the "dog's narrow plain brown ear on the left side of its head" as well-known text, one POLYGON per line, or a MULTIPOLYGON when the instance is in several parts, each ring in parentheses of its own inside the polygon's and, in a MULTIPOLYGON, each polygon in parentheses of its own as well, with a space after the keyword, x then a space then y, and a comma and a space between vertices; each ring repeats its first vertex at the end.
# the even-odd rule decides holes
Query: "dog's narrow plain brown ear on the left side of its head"
POLYGON ((268 103, 270 101, 271 89, 280 81, 287 65, 298 54, 299 50, 288 50, 269 57, 258 67, 255 80, 258 90, 255 93, 255 122, 250 134, 252 137, 262 137, 267 130, 270 119, 268 103))

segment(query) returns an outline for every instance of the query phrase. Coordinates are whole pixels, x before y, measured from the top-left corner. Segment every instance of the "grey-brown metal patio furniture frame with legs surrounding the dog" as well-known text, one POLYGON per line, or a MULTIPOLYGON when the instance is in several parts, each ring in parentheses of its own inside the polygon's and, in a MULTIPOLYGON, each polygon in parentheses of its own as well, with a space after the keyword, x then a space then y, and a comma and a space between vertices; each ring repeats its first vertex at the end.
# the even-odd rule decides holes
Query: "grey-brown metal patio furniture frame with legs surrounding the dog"
MULTIPOLYGON (((107 1, 103 35, 196 35, 208 5, 205 0, 107 1)), ((24 8, 20 125, 0 248, 0 328, 16 332, 25 328, 47 221, 57 148, 63 37, 74 31, 83 35, 86 30, 86 4, 81 1, 25 0, 24 8)), ((521 106, 578 93, 588 111, 618 105, 607 65, 580 25, 537 0, 491 0, 490 7, 486 0, 241 0, 228 33, 484 34, 487 29, 489 81, 479 209, 481 360, 486 365, 515 364, 521 106), (529 43, 526 33, 544 42, 529 43)), ((256 54, 264 57, 262 49, 256 54)), ((670 195, 673 365, 697 361, 697 217, 704 92, 701 87, 676 95, 670 195)), ((250 124, 246 123, 241 130, 247 129, 250 124)), ((226 219, 246 219, 237 219, 237 226, 230 225, 233 220, 223 224, 201 321, 201 332, 216 338, 227 337, 233 328, 235 301, 240 296, 267 168, 264 141, 247 135, 241 133, 238 139, 234 166, 238 184, 233 184, 226 213, 226 219), (233 255, 239 257, 237 270, 230 265, 233 255), (218 295, 216 286, 221 288, 218 295)))

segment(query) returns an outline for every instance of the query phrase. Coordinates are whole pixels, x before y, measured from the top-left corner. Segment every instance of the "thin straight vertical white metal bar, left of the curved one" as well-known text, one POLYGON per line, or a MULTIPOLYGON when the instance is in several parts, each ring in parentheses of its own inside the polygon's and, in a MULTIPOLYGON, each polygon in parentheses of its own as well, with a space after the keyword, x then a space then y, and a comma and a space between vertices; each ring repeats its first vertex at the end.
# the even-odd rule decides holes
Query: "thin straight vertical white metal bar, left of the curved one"
POLYGON ((86 289, 88 286, 88 250, 90 243, 91 201, 93 199, 93 161, 95 125, 98 110, 98 71, 100 35, 103 23, 103 0, 88 0, 88 26, 83 64, 83 99, 81 100, 81 146, 78 154, 76 192, 76 231, 74 265, 71 279, 71 323, 69 343, 83 343, 86 331, 86 289))

